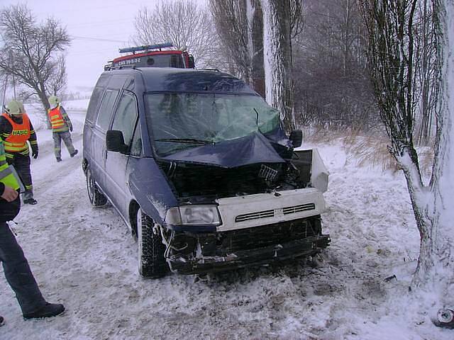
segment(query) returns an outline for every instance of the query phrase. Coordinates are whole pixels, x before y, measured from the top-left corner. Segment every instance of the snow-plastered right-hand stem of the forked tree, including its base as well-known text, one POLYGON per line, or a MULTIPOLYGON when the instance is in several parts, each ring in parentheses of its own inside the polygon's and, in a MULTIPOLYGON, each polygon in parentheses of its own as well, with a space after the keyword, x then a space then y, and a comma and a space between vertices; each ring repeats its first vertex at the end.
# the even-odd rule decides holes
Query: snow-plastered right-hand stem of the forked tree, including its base
MULTIPOLYGON (((431 230, 421 237, 415 282, 434 291, 443 306, 454 306, 454 0, 433 0, 438 34, 441 96, 438 98, 435 161, 431 179, 431 230), (431 280, 432 279, 432 280, 431 280)), ((441 306, 440 306, 441 307, 441 306)))

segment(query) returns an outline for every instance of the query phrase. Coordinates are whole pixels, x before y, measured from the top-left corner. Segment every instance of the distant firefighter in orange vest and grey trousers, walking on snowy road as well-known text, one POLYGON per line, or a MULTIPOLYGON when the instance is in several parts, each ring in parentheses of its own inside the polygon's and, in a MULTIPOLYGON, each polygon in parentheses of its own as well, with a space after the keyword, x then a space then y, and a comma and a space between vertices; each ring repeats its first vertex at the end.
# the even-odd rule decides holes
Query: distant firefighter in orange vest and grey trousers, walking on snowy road
POLYGON ((70 156, 77 154, 71 140, 72 123, 66 111, 60 106, 60 99, 56 96, 49 97, 50 109, 48 111, 50 125, 52 126, 52 137, 54 140, 54 153, 57 162, 62 162, 62 140, 70 152, 70 156))

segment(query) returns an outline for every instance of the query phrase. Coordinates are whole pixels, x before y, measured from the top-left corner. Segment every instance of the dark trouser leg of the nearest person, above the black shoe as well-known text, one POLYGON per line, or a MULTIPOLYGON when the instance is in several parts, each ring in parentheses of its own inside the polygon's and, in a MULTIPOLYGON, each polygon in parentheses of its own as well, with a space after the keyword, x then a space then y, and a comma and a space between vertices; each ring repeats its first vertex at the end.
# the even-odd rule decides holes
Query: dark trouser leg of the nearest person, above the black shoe
POLYGON ((21 246, 16 241, 9 225, 0 222, 0 261, 8 281, 21 306, 22 314, 35 312, 45 305, 38 284, 31 273, 21 246))

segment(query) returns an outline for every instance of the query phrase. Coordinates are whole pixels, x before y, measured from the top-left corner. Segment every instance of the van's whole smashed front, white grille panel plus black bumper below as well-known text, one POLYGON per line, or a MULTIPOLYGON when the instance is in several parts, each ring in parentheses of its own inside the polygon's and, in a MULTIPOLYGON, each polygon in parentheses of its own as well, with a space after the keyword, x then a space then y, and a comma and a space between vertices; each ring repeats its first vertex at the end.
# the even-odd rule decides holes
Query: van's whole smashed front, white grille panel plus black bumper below
POLYGON ((313 256, 331 239, 322 234, 323 196, 316 188, 273 191, 215 200, 216 226, 177 227, 163 233, 172 271, 225 271, 313 256))

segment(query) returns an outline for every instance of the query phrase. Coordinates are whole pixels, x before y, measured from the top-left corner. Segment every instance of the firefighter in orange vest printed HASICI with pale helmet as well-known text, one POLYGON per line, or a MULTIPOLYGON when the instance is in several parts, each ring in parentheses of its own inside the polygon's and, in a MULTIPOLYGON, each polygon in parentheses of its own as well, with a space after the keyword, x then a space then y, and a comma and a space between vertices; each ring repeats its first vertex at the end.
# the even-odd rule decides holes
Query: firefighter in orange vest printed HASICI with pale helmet
POLYGON ((0 116, 0 136, 4 140, 6 161, 12 164, 21 177, 25 192, 22 200, 25 204, 38 203, 33 198, 33 184, 30 171, 30 150, 32 157, 38 158, 38 141, 33 125, 20 101, 10 101, 6 112, 0 116))

